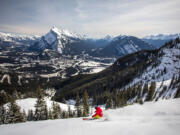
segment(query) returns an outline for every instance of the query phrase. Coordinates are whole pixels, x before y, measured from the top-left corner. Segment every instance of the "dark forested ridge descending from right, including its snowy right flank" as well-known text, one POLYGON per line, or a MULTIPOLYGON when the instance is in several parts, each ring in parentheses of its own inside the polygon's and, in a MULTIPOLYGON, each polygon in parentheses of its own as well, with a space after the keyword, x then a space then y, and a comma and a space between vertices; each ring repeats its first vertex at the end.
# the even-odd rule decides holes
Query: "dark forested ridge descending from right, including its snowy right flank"
MULTIPOLYGON (((116 89, 121 91, 130 87, 133 89, 138 85, 144 87, 146 83, 150 86, 152 82, 157 82, 153 100, 173 98, 180 88, 179 55, 180 39, 170 41, 160 49, 129 54, 119 58, 100 73, 79 76, 80 78, 77 76, 79 78, 77 80, 75 77, 60 82, 55 99, 61 100, 60 93, 63 93, 65 98, 72 98, 76 92, 87 90, 90 96, 93 96, 95 92, 101 95, 105 91, 113 92, 116 89)), ((132 102, 136 102, 136 96, 131 97, 132 102)))

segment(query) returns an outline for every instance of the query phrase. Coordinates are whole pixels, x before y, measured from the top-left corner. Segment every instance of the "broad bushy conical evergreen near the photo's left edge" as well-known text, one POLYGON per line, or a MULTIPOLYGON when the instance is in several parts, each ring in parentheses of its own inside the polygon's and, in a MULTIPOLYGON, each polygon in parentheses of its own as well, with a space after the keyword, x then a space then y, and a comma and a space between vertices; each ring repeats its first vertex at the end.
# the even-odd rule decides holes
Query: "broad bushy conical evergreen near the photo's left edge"
POLYGON ((16 104, 15 100, 12 99, 8 107, 8 123, 18 123, 24 121, 23 114, 20 112, 20 107, 16 104))

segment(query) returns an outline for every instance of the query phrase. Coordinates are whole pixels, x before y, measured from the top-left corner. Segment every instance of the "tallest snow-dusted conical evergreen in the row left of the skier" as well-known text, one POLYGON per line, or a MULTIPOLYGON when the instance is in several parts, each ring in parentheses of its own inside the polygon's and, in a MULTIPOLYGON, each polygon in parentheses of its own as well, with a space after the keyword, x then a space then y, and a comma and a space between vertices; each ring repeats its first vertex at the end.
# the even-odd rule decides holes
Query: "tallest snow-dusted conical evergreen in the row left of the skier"
POLYGON ((44 96, 42 93, 42 90, 40 87, 37 89, 37 101, 35 104, 35 114, 34 119, 35 120, 47 120, 48 119, 47 114, 47 105, 44 100, 44 96))

